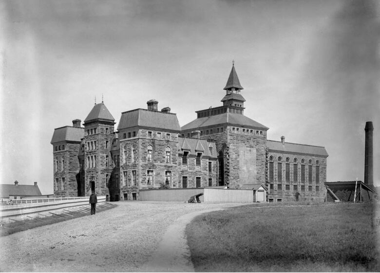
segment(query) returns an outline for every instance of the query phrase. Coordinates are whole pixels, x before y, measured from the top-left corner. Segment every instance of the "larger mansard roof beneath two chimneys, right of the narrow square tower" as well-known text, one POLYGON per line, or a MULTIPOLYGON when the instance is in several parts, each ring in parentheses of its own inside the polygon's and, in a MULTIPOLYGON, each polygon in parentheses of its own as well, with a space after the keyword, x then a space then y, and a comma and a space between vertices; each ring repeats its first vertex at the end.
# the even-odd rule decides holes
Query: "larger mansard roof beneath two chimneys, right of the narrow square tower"
POLYGON ((135 109, 121 113, 117 130, 132 127, 150 127, 162 130, 180 131, 177 115, 173 113, 135 109))

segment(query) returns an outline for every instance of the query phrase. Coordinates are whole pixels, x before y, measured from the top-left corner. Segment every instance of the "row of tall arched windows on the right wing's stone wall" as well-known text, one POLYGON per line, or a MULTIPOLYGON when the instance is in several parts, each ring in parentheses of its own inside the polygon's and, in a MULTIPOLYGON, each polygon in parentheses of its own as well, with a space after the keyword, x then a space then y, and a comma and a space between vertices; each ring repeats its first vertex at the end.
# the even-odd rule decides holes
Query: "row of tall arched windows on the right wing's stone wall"
MULTIPOLYGON (((306 181, 306 172, 305 172, 305 159, 301 159, 301 182, 306 181)), ((316 184, 320 182, 320 162, 319 160, 315 161, 315 176, 314 181, 316 184)), ((269 182, 274 182, 274 158, 273 156, 269 157, 269 182)), ((313 182, 313 161, 311 159, 307 162, 307 178, 308 182, 313 182)), ((282 157, 277 158, 277 182, 283 182, 283 162, 282 157)), ((290 159, 287 157, 285 159, 285 182, 290 182, 290 159)), ((293 159, 293 182, 298 182, 298 159, 293 159)))

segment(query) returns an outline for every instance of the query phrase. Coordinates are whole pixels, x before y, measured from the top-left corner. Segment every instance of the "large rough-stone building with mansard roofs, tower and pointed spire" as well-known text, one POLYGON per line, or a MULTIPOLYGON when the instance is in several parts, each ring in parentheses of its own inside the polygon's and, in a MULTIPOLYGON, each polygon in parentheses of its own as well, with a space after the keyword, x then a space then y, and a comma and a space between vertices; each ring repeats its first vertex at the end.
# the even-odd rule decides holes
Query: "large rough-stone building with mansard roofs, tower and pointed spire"
POLYGON ((147 109, 123 112, 114 132, 111 113, 95 104, 84 128, 74 120, 55 129, 55 194, 95 189, 110 200, 138 200, 140 189, 263 184, 269 201, 323 200, 325 148, 267 140, 269 128, 244 115, 234 65, 224 90, 222 106, 196 111, 183 127, 169 107, 159 111, 150 100, 147 109))

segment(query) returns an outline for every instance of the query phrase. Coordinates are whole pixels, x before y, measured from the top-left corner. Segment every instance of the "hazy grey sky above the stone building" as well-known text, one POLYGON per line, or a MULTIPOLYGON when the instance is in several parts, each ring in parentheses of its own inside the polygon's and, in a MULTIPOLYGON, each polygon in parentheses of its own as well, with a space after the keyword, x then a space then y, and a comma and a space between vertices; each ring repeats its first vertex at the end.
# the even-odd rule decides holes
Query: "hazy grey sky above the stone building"
POLYGON ((327 181, 364 178, 374 125, 380 185, 375 0, 1 0, 0 183, 53 193, 54 128, 102 96, 121 112, 170 107, 181 126, 218 107, 232 60, 245 115, 267 139, 324 146, 327 181))

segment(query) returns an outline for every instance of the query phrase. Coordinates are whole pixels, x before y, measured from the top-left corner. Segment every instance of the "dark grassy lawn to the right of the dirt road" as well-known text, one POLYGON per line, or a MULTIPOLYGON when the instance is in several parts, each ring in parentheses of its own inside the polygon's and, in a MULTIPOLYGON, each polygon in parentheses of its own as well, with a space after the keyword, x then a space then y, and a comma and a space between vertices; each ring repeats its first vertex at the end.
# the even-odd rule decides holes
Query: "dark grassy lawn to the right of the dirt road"
POLYGON ((204 214, 186 229, 191 259, 197 272, 379 272, 371 206, 275 203, 204 214))

